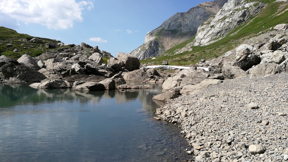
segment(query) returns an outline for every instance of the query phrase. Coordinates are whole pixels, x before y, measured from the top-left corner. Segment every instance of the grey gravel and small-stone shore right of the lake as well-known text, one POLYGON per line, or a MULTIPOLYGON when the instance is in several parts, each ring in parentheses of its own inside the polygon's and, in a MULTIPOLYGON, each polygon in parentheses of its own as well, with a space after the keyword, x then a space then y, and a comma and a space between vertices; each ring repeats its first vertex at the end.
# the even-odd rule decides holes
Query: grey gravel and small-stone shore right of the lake
POLYGON ((224 80, 156 114, 179 125, 195 161, 288 160, 288 73, 224 80))

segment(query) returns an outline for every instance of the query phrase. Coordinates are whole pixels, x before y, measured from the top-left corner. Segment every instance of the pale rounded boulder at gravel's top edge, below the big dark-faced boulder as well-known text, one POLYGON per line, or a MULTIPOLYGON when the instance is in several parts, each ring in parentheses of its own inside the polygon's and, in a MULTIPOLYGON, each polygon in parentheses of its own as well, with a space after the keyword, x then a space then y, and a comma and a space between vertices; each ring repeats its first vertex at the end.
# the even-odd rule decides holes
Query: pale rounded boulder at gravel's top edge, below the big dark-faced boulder
POLYGON ((224 65, 222 75, 228 79, 236 79, 247 76, 247 73, 237 66, 224 65))

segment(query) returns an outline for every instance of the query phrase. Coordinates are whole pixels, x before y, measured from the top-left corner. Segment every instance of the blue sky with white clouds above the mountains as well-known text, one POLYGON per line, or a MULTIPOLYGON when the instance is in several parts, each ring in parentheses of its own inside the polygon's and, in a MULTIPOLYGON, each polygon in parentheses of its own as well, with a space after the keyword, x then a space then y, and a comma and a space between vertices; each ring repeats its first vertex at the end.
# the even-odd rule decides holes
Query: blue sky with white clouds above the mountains
POLYGON ((0 0, 0 26, 63 43, 130 53, 177 12, 205 0, 0 0))

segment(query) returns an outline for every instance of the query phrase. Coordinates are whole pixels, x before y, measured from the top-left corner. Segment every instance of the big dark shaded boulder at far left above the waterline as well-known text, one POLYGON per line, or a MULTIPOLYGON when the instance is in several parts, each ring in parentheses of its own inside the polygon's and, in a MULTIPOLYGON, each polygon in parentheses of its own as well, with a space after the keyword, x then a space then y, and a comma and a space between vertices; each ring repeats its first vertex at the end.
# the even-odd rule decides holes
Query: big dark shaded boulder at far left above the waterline
POLYGON ((40 72, 28 67, 24 64, 17 64, 14 62, 6 63, 0 67, 0 78, 9 79, 10 77, 17 77, 26 82, 40 82, 46 79, 46 76, 40 72))

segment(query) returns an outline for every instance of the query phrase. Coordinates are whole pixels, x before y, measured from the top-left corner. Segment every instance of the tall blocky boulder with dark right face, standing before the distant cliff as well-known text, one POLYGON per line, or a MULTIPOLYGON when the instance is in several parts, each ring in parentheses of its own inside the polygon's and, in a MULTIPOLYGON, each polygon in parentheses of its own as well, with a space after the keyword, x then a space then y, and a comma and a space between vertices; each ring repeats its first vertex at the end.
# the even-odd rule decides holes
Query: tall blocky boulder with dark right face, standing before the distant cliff
POLYGON ((124 62, 125 69, 128 71, 137 70, 140 67, 139 59, 128 53, 118 52, 117 59, 124 62))

